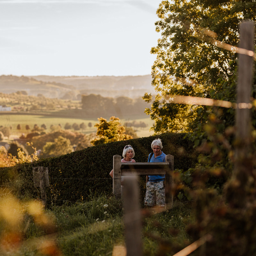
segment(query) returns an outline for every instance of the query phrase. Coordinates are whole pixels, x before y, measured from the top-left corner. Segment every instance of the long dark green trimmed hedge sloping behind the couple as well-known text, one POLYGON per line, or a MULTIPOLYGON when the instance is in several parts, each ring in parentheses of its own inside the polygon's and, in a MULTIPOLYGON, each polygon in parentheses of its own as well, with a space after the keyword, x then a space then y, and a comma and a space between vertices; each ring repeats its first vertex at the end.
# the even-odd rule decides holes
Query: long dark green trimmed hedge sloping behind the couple
MULTIPOLYGON (((184 171, 194 167, 197 154, 193 143, 184 139, 185 134, 164 133, 138 139, 110 142, 59 157, 41 159, 29 164, 0 169, 1 185, 10 181, 19 197, 40 197, 40 189, 33 184, 32 167, 48 167, 50 188, 47 188, 47 203, 62 204, 63 201, 86 200, 90 191, 112 193, 113 156, 122 156, 125 145, 132 145, 136 162, 147 162, 152 152, 151 142, 160 138, 162 151, 174 156, 174 169, 184 171), (13 179, 19 174, 19 181, 13 179), (12 181, 13 180, 13 181, 12 181), (14 182, 15 180, 15 182, 14 182)), ((140 177, 141 196, 145 194, 145 177, 140 177)), ((142 198, 143 199, 143 198, 142 198)))

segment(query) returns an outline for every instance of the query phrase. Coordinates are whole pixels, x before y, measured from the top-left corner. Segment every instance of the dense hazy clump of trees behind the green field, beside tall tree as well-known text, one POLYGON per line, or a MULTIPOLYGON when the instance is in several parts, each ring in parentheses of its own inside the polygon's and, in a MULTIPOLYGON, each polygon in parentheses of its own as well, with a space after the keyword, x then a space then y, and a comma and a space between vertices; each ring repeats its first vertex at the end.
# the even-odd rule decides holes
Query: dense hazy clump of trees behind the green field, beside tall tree
POLYGON ((118 116, 120 119, 127 115, 143 115, 145 108, 150 107, 141 97, 109 98, 101 95, 82 95, 82 109, 88 116, 118 116))

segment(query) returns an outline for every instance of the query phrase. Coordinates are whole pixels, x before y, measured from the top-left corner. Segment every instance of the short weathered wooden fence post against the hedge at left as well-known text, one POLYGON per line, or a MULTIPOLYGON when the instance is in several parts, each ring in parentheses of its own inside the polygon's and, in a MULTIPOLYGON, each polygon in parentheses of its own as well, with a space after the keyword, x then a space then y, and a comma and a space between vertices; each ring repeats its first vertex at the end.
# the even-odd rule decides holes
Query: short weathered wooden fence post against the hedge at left
POLYGON ((48 168, 43 166, 33 167, 33 180, 36 188, 41 190, 42 204, 46 207, 46 187, 49 187, 48 168))

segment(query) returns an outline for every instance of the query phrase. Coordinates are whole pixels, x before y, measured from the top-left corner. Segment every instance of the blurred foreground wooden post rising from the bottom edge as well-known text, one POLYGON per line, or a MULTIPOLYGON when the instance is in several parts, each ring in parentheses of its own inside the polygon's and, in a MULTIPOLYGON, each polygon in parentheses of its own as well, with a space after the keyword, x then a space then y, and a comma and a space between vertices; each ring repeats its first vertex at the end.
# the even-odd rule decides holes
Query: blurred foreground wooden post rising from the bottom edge
POLYGON ((124 228, 127 256, 142 255, 141 215, 137 175, 124 179, 124 228))

